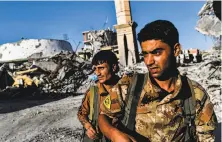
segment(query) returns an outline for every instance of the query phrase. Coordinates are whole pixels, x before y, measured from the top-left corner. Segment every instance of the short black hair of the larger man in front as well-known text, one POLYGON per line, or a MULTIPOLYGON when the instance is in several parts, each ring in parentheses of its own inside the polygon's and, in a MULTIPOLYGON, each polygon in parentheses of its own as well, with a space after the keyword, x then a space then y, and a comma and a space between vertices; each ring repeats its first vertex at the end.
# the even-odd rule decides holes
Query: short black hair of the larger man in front
POLYGON ((138 33, 140 44, 147 40, 161 40, 170 47, 179 43, 179 33, 177 28, 167 20, 156 20, 145 25, 138 33))

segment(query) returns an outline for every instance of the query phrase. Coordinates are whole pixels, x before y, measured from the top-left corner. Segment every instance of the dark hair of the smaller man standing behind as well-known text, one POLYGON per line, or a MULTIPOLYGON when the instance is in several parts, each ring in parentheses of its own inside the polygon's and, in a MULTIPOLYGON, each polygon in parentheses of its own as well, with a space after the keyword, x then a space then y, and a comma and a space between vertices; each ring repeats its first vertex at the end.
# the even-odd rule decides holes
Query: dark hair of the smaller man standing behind
POLYGON ((110 67, 116 65, 116 72, 119 71, 118 58, 112 51, 101 50, 94 55, 92 59, 93 65, 99 65, 103 63, 107 63, 110 67))

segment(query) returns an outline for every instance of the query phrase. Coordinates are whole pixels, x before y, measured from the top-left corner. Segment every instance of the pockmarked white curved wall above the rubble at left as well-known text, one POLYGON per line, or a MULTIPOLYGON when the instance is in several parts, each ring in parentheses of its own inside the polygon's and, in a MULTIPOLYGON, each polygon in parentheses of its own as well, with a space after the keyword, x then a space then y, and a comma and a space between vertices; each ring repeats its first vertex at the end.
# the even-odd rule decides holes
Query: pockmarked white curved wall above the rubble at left
POLYGON ((73 51, 71 44, 55 39, 24 39, 0 45, 0 62, 28 57, 50 57, 61 51, 73 51))

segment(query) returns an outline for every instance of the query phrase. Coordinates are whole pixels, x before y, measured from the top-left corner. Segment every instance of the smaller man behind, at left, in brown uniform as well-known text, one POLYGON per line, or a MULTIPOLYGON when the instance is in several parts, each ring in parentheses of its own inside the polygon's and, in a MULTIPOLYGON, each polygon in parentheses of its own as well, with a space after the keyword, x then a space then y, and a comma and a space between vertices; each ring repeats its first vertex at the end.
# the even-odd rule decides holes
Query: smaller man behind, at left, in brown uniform
MULTIPOLYGON (((98 140, 101 139, 100 132, 96 126, 99 104, 104 101, 106 107, 113 106, 113 104, 115 107, 119 107, 118 103, 115 104, 117 97, 115 91, 118 90, 117 84, 120 82, 120 78, 116 75, 119 71, 119 66, 118 59, 113 52, 98 52, 93 57, 92 64, 94 65, 94 72, 97 75, 98 82, 86 92, 77 115, 86 130, 88 138, 98 140)), ((86 139, 87 137, 84 138, 84 141, 90 140, 86 139)))

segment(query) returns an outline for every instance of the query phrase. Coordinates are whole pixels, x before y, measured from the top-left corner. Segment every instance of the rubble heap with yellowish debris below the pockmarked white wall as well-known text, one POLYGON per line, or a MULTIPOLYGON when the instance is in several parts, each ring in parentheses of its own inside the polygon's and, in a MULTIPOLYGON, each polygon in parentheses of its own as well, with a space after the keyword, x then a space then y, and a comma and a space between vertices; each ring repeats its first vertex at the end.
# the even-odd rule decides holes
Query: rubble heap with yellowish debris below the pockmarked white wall
MULTIPOLYGON (((85 84, 90 84, 88 75, 92 73, 90 62, 69 51, 60 52, 51 58, 4 63, 1 68, 4 68, 5 75, 8 74, 5 82, 14 79, 13 84, 5 83, 5 89, 0 88, 1 92, 7 92, 9 88, 25 88, 27 92, 31 88, 33 92, 38 90, 41 94, 83 93, 88 87, 85 84), (79 90, 82 85, 82 90, 79 90)), ((1 70, 0 77, 3 76, 1 70)))

